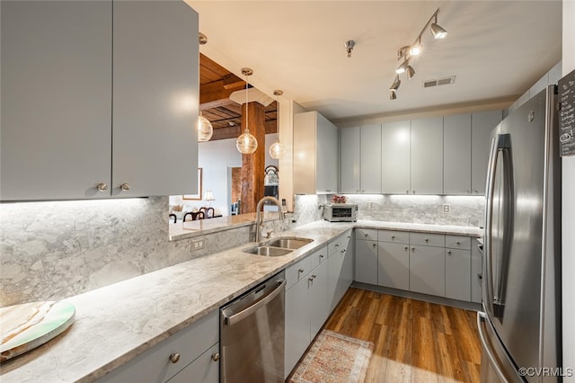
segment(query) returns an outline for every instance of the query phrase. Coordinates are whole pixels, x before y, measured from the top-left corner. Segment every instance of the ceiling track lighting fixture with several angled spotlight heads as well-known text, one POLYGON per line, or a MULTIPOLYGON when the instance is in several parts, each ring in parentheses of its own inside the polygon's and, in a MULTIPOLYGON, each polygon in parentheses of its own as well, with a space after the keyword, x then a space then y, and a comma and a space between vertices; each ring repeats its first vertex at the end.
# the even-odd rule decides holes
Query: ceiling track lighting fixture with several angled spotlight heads
POLYGON ((420 31, 420 34, 417 36, 417 38, 415 38, 415 40, 411 45, 406 45, 397 51, 397 60, 398 61, 403 60, 403 63, 395 69, 396 76, 394 78, 394 83, 389 87, 390 100, 397 99, 396 91, 399 88, 399 85, 402 83, 401 80, 399 79, 400 74, 405 73, 409 80, 411 80, 411 78, 415 76, 415 69, 411 67, 410 59, 420 55, 423 49, 423 46, 421 45, 421 36, 425 32, 425 30, 430 28, 431 33, 433 34, 433 37, 435 39, 446 38, 447 31, 442 27, 440 27, 438 24, 438 13, 439 8, 435 13, 431 15, 431 17, 429 17, 428 22, 425 24, 423 29, 420 31))

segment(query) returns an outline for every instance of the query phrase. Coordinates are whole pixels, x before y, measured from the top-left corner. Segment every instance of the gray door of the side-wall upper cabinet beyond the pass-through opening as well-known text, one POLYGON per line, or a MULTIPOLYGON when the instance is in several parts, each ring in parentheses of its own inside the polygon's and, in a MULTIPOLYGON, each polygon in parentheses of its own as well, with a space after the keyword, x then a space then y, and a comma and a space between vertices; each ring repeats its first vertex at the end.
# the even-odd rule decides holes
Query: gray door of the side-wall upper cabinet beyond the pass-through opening
POLYGON ((317 115, 315 188, 318 194, 338 189, 338 131, 320 113, 317 115))

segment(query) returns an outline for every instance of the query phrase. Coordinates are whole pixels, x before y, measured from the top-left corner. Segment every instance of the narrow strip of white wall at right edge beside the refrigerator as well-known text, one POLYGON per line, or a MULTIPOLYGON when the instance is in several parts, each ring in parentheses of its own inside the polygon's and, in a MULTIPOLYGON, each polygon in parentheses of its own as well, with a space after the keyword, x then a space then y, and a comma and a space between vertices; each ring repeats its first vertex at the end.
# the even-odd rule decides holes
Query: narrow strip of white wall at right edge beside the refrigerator
MULTIPOLYGON (((563 76, 575 70, 575 1, 563 0, 563 76)), ((575 156, 562 157, 563 369, 575 371, 575 156)), ((575 382, 575 376, 563 381, 575 382)))

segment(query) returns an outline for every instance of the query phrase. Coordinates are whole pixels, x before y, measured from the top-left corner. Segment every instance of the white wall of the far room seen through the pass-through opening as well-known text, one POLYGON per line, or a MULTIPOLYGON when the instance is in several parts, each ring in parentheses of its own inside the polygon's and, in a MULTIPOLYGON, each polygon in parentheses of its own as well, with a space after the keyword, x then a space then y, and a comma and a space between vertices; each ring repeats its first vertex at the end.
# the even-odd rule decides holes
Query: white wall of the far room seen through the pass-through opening
MULTIPOLYGON (((276 142, 277 138, 277 134, 266 135, 266 166, 278 166, 278 160, 271 158, 268 152, 271 144, 276 142)), ((200 142, 198 145, 198 166, 203 169, 202 197, 206 191, 213 191, 216 200, 211 201, 210 206, 219 209, 225 216, 229 215, 227 191, 231 186, 228 184, 227 168, 229 166, 242 166, 242 155, 235 148, 235 138, 200 142)), ((279 183, 281 183, 281 169, 279 169, 279 183)), ((200 208, 208 206, 208 201, 182 200, 181 195, 178 195, 170 196, 170 204, 184 204, 200 208)))

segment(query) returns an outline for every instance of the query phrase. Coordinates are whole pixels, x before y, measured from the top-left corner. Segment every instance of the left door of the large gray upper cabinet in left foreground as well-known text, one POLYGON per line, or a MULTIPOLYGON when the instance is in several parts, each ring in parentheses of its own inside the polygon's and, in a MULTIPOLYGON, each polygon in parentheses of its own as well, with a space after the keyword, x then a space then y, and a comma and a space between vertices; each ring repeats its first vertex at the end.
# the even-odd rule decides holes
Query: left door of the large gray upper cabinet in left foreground
POLYGON ((109 196, 111 2, 0 6, 1 199, 109 196))

